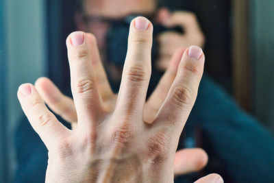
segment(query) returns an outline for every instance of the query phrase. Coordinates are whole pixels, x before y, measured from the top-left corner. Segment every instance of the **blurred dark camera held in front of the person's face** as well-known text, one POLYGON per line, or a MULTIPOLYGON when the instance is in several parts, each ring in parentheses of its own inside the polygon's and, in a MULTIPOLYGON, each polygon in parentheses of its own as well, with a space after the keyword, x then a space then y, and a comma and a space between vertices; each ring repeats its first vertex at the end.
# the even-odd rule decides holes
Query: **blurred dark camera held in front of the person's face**
MULTIPOLYGON (((110 30, 106 37, 106 51, 108 62, 114 63, 116 66, 122 67, 125 62, 125 56, 127 53, 127 38, 129 34, 129 25, 136 16, 127 16, 123 20, 112 21, 110 30)), ((157 36, 162 32, 173 31, 183 33, 181 27, 167 28, 160 24, 153 23, 153 47, 151 49, 151 60, 154 64, 158 58, 159 43, 157 36)))

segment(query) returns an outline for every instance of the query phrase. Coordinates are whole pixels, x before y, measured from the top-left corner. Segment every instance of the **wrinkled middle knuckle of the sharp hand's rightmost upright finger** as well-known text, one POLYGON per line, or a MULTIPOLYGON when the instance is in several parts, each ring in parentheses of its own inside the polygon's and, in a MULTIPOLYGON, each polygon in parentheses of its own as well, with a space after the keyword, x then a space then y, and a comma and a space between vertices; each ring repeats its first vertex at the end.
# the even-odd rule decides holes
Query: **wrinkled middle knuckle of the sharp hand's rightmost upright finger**
POLYGON ((192 92, 186 86, 180 86, 173 91, 173 99, 177 106, 182 108, 188 106, 192 102, 192 92))

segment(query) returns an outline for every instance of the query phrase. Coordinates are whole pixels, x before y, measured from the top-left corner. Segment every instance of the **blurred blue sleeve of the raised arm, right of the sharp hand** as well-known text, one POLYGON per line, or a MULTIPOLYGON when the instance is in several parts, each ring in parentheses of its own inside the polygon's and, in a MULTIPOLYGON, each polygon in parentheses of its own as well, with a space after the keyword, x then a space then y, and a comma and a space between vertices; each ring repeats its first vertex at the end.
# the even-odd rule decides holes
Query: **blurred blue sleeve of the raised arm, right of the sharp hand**
POLYGON ((204 76, 190 114, 208 139, 210 150, 233 182, 274 181, 274 138, 240 109, 210 77, 204 76))

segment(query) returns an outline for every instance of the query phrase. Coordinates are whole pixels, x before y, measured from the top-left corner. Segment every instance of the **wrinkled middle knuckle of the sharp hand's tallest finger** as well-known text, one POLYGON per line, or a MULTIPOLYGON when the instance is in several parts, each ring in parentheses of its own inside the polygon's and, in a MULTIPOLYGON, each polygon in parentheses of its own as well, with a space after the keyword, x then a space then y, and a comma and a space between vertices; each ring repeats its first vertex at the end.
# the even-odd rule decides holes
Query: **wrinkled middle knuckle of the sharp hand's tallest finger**
POLYGON ((128 70, 128 78, 131 82, 142 82, 147 78, 147 72, 143 66, 131 66, 128 70))

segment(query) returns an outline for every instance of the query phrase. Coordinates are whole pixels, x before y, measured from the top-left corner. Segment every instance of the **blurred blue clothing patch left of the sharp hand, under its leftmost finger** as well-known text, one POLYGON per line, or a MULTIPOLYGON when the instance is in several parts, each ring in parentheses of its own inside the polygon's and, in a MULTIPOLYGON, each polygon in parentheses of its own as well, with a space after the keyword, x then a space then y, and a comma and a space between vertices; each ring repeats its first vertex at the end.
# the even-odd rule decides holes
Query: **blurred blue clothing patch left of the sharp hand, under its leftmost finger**
POLYGON ((47 148, 24 116, 15 132, 16 175, 14 182, 45 182, 47 148))

